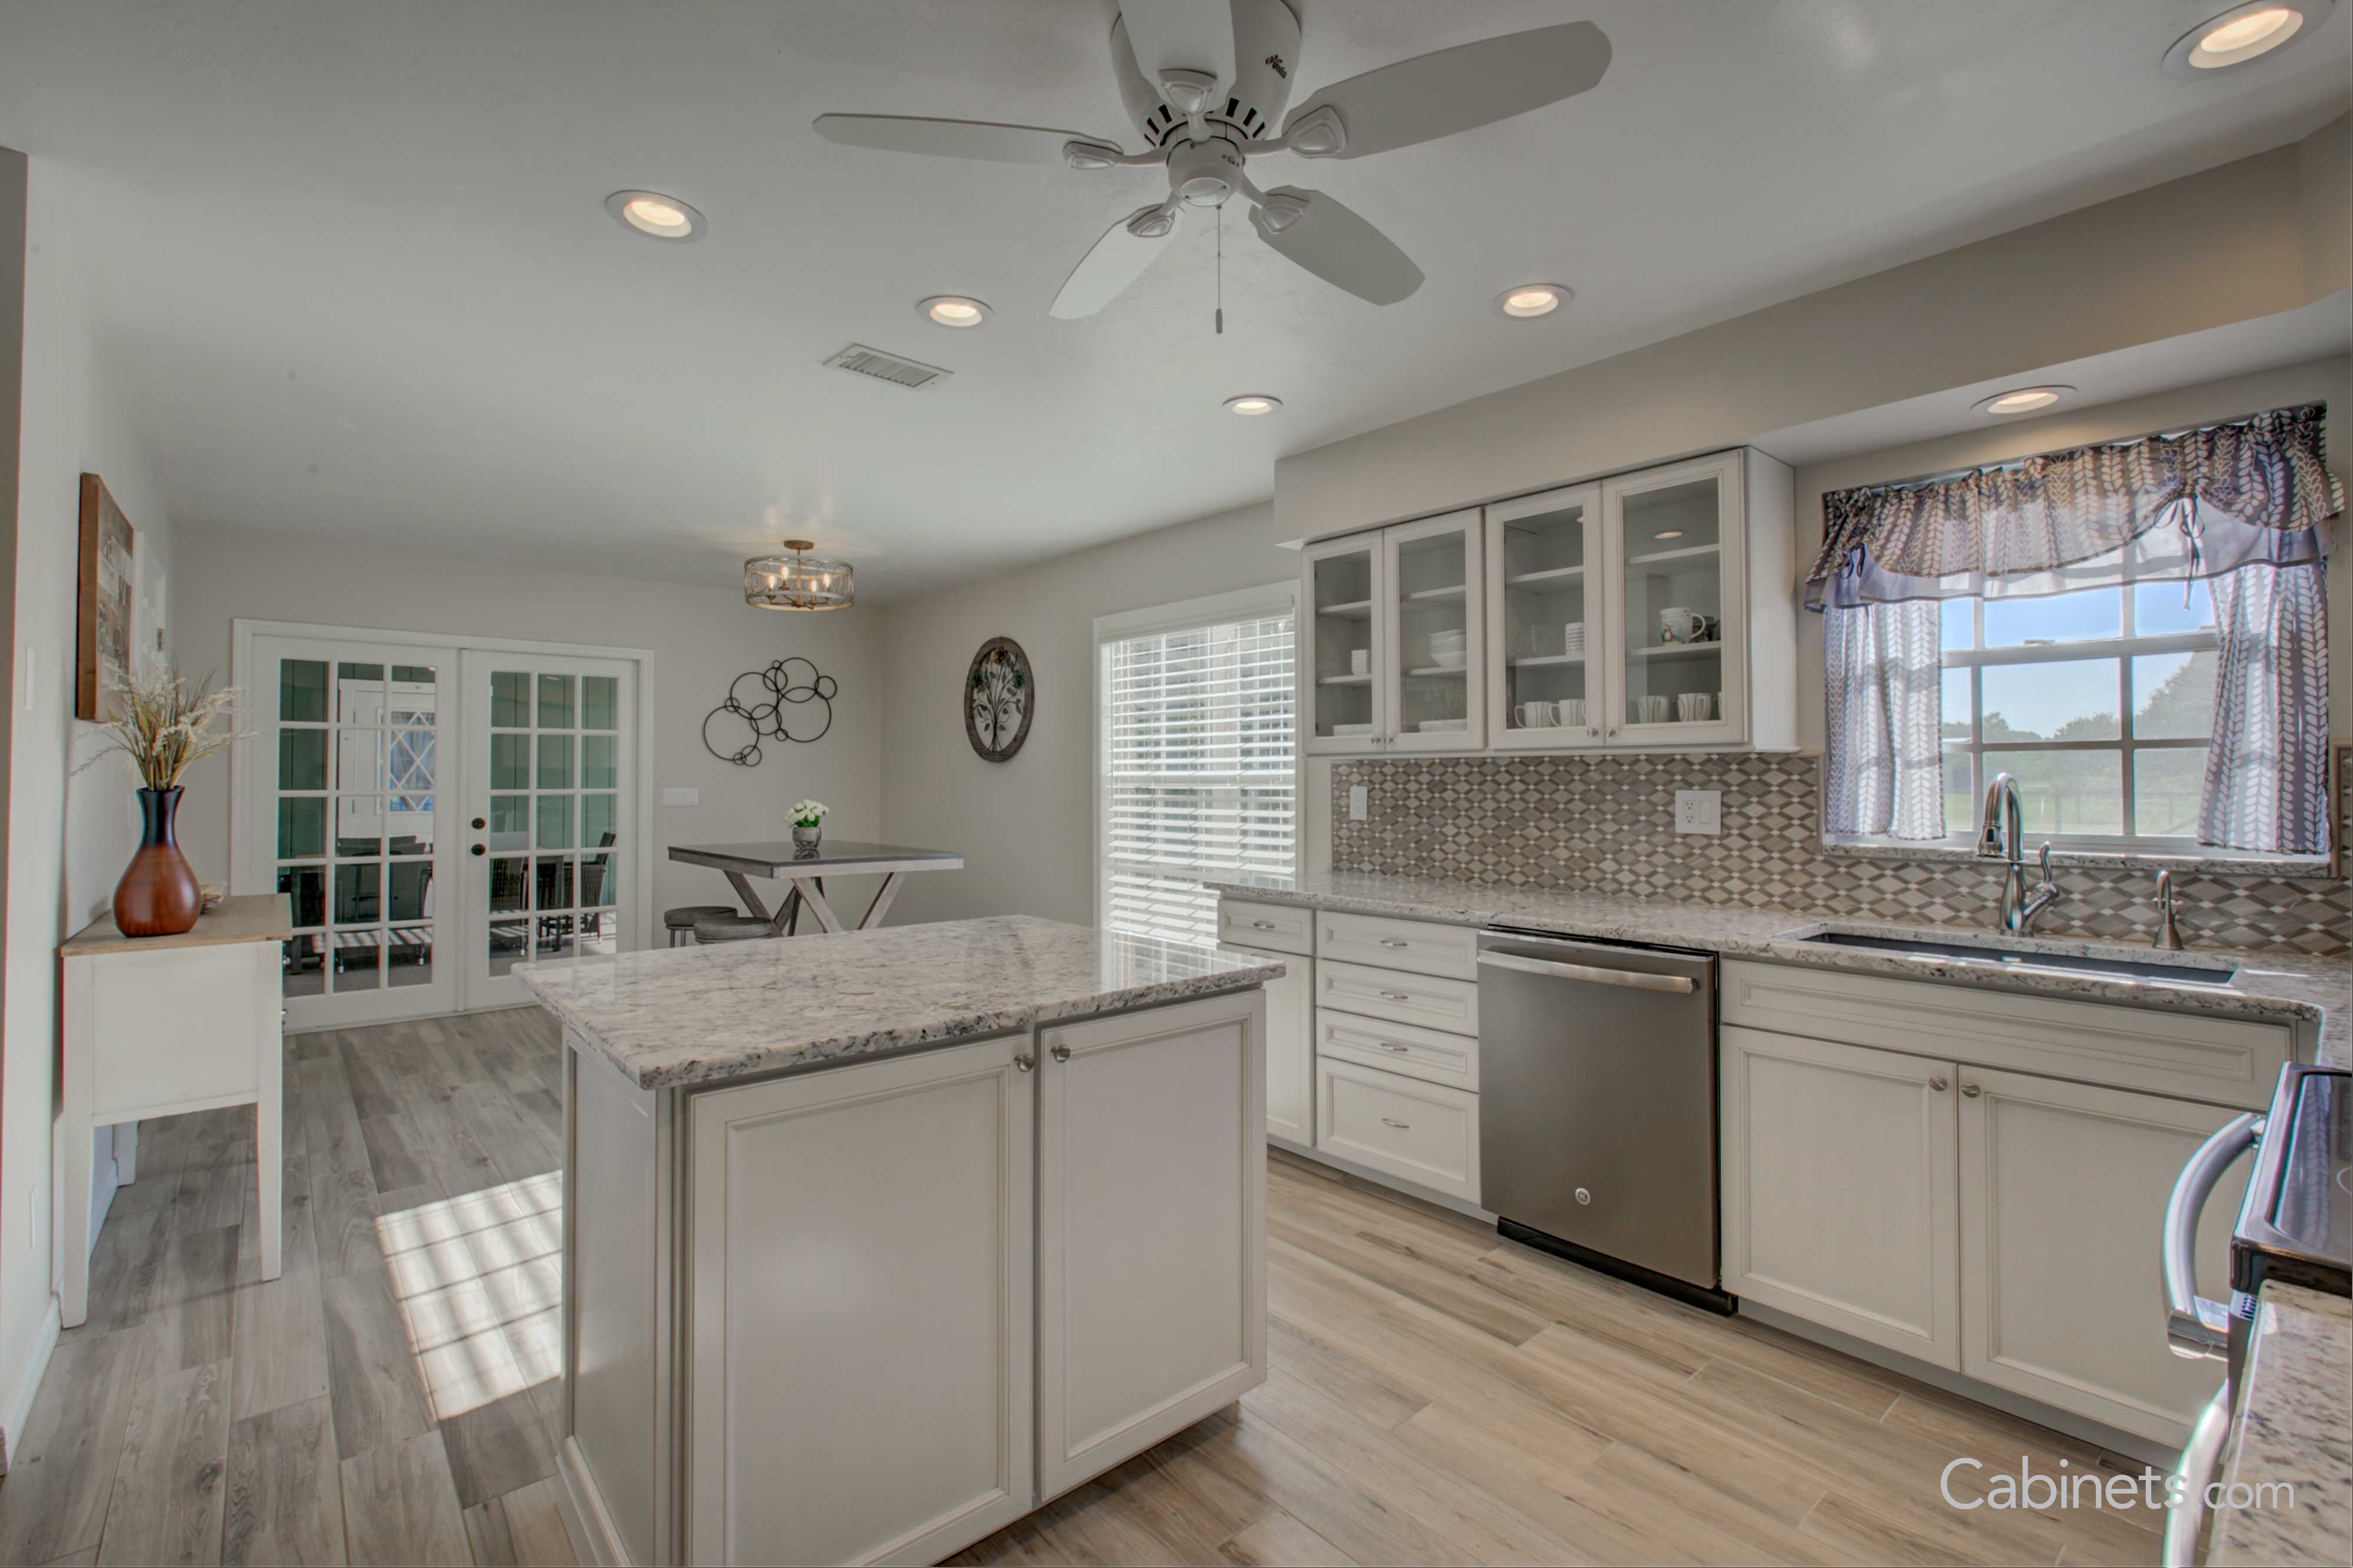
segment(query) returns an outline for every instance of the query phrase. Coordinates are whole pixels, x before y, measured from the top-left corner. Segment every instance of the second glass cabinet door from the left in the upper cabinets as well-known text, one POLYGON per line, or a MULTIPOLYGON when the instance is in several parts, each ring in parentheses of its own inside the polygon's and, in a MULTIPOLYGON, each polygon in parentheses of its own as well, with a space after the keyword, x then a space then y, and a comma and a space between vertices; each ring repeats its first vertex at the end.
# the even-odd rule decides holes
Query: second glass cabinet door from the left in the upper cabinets
POLYGON ((1384 529, 1381 543, 1388 750, 1478 750, 1487 729, 1480 515, 1402 522, 1384 529))

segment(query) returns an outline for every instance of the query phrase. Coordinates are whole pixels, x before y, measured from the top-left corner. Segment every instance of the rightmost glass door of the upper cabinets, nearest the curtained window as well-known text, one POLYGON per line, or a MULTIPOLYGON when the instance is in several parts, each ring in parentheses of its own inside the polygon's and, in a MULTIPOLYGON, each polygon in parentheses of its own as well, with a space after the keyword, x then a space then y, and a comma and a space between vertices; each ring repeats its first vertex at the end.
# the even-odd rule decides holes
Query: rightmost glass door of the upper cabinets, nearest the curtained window
POLYGON ((1737 741, 1741 668, 1739 458, 1699 458, 1602 487, 1614 578, 1612 691, 1600 715, 1617 745, 1737 741))

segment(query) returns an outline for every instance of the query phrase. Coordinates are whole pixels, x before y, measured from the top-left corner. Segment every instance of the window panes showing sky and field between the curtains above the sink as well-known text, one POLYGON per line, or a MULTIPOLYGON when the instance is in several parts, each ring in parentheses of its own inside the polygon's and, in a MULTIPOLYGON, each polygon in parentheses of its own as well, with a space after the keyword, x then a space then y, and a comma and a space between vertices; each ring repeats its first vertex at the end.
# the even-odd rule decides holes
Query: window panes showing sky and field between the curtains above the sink
POLYGON ((2031 835, 2078 846, 2188 846, 2214 731, 2205 583, 1946 599, 1944 823, 1969 835, 2012 773, 2031 835))

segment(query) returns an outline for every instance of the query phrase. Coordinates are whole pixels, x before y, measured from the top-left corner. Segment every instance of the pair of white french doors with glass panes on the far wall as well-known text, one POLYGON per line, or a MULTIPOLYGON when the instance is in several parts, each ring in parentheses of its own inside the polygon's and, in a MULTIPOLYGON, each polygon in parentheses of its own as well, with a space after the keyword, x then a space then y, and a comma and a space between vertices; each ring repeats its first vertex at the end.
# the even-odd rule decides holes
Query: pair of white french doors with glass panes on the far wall
POLYGON ((235 886, 292 898, 289 1030, 513 1006, 515 964, 642 945, 633 661, 254 630, 238 682, 235 886))

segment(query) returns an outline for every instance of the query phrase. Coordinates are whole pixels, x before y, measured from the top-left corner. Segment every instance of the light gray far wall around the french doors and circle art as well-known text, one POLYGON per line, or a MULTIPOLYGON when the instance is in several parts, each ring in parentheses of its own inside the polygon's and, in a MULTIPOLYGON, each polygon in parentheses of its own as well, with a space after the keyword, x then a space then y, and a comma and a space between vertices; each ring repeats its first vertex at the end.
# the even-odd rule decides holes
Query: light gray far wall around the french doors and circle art
MULTIPOLYGON (((664 858, 671 844, 786 837, 791 823, 784 809, 805 795, 833 806, 828 832, 845 839, 882 832, 878 764, 885 693, 880 616, 873 611, 753 609, 732 583, 685 588, 574 576, 299 534, 188 529, 181 559, 186 564, 174 585, 181 665, 219 668, 224 677, 231 621, 240 616, 381 628, 388 635, 652 649, 654 689, 645 712, 652 715, 647 743, 656 790, 656 917, 673 903, 734 903, 718 872, 664 858), (734 766, 706 752, 704 715, 727 693, 727 682, 791 654, 840 682, 826 738, 814 745, 769 743, 760 766, 734 766), (692 785, 701 790, 701 804, 661 806, 664 785, 692 785)), ((191 776, 181 825, 198 877, 226 879, 226 759, 205 762, 191 776)), ((826 889, 833 893, 833 882, 826 889)), ((871 889, 868 879, 842 879, 842 903, 871 896, 871 889)), ((856 907, 864 910, 864 903, 856 907)))

